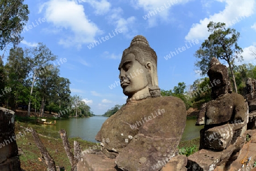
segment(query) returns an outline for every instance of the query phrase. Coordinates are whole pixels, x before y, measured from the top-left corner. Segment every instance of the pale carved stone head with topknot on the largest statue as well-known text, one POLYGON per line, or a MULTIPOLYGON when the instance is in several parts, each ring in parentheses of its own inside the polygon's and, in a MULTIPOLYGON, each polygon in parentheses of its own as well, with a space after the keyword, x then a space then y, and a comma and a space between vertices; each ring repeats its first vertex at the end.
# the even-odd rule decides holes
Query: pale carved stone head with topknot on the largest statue
POLYGON ((128 101, 160 96, 157 75, 157 56, 143 36, 135 36, 130 47, 123 51, 119 64, 119 79, 128 101))

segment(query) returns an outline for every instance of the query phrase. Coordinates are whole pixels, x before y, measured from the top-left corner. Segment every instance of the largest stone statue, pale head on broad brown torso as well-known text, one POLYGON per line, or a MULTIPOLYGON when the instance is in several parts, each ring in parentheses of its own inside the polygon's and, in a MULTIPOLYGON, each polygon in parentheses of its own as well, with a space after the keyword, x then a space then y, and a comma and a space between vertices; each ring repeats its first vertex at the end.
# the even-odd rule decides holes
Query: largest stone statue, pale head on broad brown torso
POLYGON ((105 170, 160 170, 177 155, 185 104, 176 97, 160 97, 156 61, 146 38, 135 36, 118 67, 127 103, 102 125, 96 136, 102 152, 85 154, 80 162, 84 168, 100 170, 103 163, 98 160, 104 159, 105 170))

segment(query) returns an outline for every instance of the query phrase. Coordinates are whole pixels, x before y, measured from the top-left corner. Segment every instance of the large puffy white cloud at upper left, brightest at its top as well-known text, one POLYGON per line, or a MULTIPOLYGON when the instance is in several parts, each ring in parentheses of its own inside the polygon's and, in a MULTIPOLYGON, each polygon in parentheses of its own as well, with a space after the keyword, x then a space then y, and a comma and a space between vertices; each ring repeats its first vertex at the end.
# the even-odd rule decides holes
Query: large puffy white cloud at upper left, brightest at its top
POLYGON ((74 1, 68 0, 50 0, 41 6, 39 12, 44 11, 44 18, 48 23, 52 23, 57 30, 71 30, 72 34, 64 34, 61 37, 59 44, 65 47, 75 45, 81 48, 84 43, 90 43, 94 40, 97 34, 100 34, 100 29, 90 22, 85 15, 84 6, 77 4, 74 1))

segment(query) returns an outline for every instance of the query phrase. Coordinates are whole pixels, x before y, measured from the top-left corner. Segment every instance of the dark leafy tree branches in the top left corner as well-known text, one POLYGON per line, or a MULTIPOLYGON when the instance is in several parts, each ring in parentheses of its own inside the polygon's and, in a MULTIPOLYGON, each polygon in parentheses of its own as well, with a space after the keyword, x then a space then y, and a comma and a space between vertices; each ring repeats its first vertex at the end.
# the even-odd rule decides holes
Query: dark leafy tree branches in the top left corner
MULTIPOLYGON (((28 20, 28 6, 24 0, 0 0, 0 50, 7 44, 17 45, 20 33, 28 20)), ((2 60, 2 59, 1 59, 2 60)))

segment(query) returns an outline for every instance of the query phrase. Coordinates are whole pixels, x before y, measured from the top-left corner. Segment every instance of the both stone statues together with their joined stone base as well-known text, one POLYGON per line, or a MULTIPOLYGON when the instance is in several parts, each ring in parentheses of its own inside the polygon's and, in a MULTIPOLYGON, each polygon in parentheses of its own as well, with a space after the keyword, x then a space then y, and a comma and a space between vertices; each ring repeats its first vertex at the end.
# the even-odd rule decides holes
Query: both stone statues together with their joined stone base
MULTIPOLYGON (((200 151, 188 158, 178 155, 177 149, 186 123, 184 102, 161 97, 157 56, 145 37, 134 37, 118 69, 127 103, 98 132, 101 151, 84 153, 78 170, 213 170, 239 149, 237 140, 249 120, 248 106, 242 95, 232 93, 228 69, 216 58, 210 61, 208 76, 218 84, 197 119, 198 125, 205 125, 200 151)), ((249 91, 256 91, 255 86, 249 91)))

